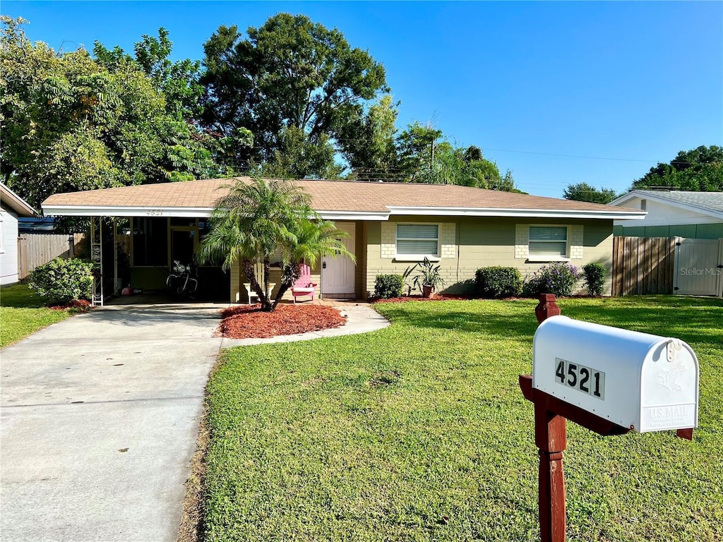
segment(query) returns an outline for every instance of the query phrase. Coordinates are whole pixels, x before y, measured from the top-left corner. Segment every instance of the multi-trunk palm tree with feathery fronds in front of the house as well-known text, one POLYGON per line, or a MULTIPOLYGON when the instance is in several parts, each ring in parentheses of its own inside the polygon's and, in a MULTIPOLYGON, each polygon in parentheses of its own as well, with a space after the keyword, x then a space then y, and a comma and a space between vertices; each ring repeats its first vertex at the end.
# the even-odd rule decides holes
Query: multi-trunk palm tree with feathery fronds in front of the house
POLYGON ((323 256, 346 254, 353 258, 339 241, 346 232, 322 220, 310 207, 309 194, 293 182, 254 178, 248 183, 238 181, 228 189, 216 203, 197 259, 222 262, 226 270, 241 262, 263 311, 273 311, 299 278, 302 259, 313 266, 323 256), (267 295, 270 267, 278 255, 282 259, 281 287, 272 300, 267 295), (254 272, 259 261, 263 277, 254 272))

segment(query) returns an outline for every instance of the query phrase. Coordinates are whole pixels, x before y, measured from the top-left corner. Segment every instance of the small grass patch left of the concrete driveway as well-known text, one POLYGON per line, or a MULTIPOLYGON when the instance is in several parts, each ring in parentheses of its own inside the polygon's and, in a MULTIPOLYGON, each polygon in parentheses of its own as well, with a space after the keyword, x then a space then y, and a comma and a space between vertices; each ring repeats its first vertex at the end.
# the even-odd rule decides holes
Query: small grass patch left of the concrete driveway
POLYGON ((68 311, 48 309, 27 284, 0 288, 0 348, 69 317, 68 311))

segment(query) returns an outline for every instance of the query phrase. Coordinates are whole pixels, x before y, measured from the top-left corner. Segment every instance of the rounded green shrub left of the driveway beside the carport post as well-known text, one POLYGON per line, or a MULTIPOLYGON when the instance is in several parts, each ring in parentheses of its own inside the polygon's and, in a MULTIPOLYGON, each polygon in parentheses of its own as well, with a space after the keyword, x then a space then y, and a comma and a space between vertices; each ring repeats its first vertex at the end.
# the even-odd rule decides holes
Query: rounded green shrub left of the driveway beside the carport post
POLYGON ((56 258, 30 272, 30 288, 48 305, 93 296, 93 264, 82 259, 56 258))

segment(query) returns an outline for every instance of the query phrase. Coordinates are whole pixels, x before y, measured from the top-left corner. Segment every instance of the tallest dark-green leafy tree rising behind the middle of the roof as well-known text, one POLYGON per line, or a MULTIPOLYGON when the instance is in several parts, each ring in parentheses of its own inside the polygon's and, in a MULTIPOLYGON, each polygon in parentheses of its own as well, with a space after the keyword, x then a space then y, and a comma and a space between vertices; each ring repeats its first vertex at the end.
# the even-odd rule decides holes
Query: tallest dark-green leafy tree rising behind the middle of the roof
MULTIPOLYGON (((367 51, 304 15, 281 13, 247 34, 219 27, 204 44, 201 79, 206 125, 226 136, 239 128, 254 134, 253 152, 236 155, 241 165, 278 162, 290 133, 303 134, 307 154, 325 154, 330 137, 359 118, 366 100, 388 90, 383 66, 367 51)), ((331 167, 333 158, 304 176, 323 177, 331 167)))

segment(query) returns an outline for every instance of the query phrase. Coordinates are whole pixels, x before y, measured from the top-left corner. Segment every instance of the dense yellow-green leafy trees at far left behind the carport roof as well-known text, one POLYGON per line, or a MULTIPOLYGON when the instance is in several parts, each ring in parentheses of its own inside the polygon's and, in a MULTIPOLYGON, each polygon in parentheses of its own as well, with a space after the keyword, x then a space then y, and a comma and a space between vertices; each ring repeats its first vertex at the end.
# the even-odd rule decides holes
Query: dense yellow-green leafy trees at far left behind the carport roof
POLYGON ((38 207, 56 192, 185 180, 214 170, 204 143, 166 111, 152 79, 128 59, 109 71, 79 49, 31 43, 2 17, 0 175, 38 207))

